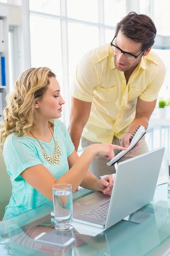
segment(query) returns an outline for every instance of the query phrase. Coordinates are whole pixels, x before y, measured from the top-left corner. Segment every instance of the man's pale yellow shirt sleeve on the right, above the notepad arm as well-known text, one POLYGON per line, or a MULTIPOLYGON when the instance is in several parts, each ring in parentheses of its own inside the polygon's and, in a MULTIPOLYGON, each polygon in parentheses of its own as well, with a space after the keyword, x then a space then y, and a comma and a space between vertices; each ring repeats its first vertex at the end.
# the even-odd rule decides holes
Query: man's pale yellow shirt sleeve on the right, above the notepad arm
POLYGON ((164 63, 161 62, 160 66, 157 66, 155 76, 150 84, 146 87, 144 92, 139 96, 140 99, 151 102, 158 98, 159 90, 164 82, 166 74, 164 63))

